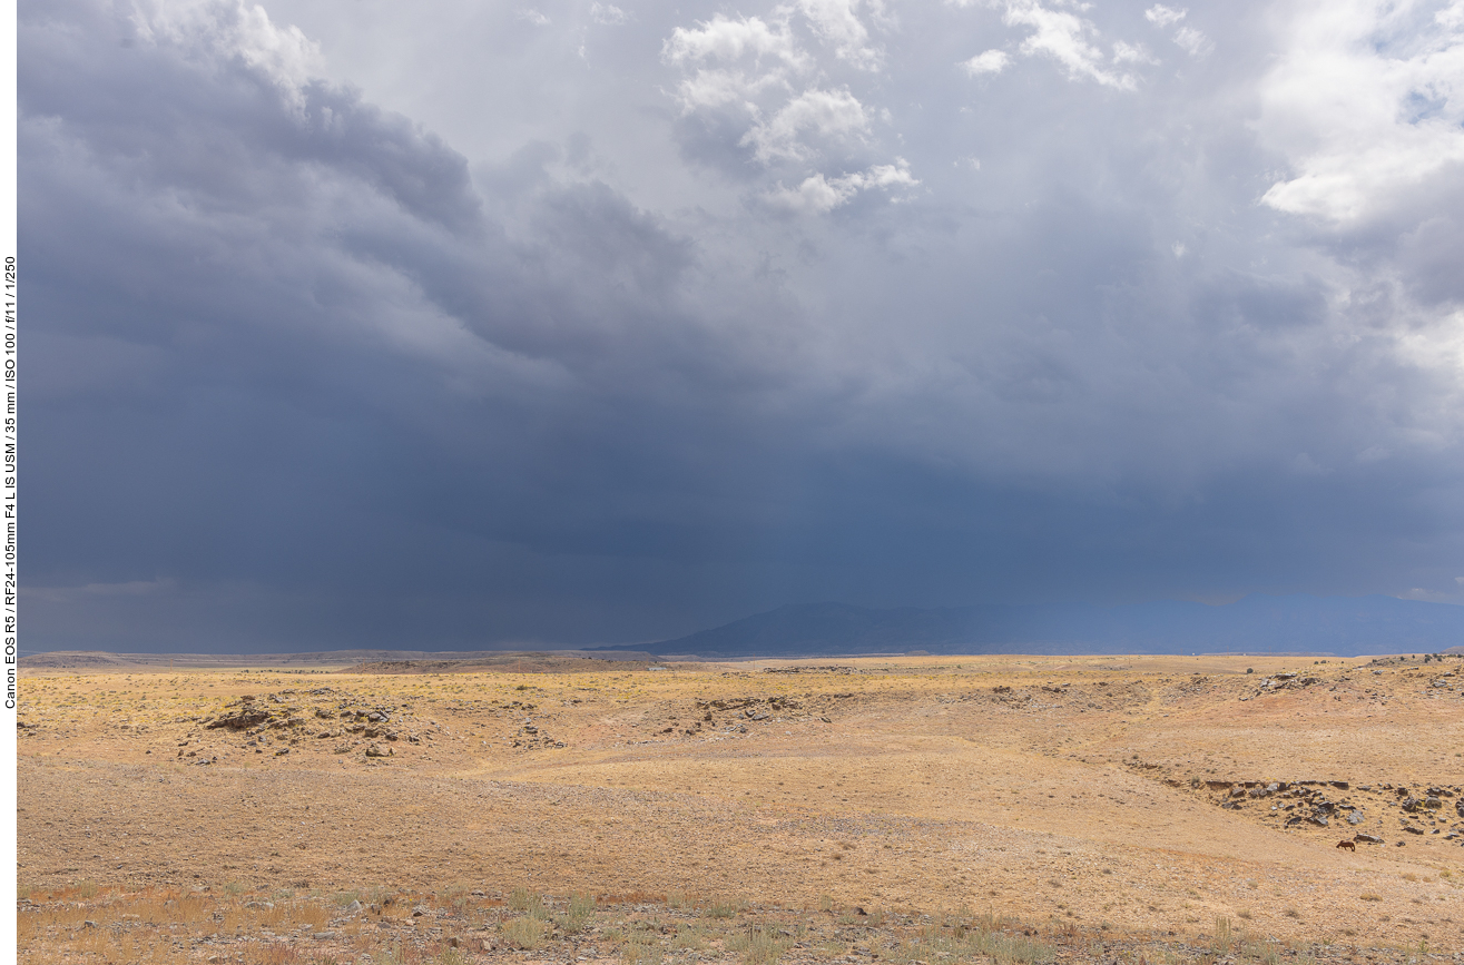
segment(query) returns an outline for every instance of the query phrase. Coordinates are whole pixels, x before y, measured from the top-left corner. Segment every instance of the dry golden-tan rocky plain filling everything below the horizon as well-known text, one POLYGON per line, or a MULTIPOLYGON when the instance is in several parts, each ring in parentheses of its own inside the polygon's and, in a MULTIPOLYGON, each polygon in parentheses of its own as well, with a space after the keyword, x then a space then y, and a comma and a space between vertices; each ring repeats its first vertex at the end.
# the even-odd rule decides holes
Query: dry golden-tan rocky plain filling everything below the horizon
POLYGON ((1464 659, 644 666, 28 669, 22 958, 1464 961, 1464 659))

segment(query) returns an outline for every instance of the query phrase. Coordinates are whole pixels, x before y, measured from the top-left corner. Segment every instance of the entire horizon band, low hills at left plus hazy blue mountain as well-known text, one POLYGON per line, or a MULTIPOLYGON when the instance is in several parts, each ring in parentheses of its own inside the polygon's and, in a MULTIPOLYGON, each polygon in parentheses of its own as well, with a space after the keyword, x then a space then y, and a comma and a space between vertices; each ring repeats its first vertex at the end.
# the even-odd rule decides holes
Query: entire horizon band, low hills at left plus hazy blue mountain
MULTIPOLYGON (((1038 603, 875 609, 793 603, 660 643, 552 649, 359 649, 310 653, 111 653, 22 649, 26 669, 305 668, 438 662, 483 669, 515 662, 657 662, 928 653, 1382 656, 1464 653, 1464 606, 1392 596, 1263 596, 1224 606, 1159 600, 1126 606, 1038 603)), ((548 668, 549 663, 545 663, 548 668)), ((558 666, 558 663, 555 663, 558 666)))

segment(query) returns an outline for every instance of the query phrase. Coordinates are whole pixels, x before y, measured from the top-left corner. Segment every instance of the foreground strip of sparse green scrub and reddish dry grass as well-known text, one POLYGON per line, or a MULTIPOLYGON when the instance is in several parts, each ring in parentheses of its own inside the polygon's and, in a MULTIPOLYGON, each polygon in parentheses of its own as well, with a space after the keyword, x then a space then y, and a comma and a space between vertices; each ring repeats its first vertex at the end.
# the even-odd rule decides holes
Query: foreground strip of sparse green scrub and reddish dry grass
MULTIPOLYGON (((83 883, 23 892, 19 961, 240 962, 243 965, 470 965, 531 952, 555 961, 624 965, 818 965, 851 955, 890 965, 1326 965, 1354 944, 1332 936, 1287 947, 1237 931, 1227 917, 1211 934, 1118 934, 1067 920, 1034 927, 991 912, 922 915, 914 909, 842 909, 832 899, 802 909, 736 898, 575 893, 558 899, 471 884, 414 893, 388 887, 313 892, 223 887, 215 892, 117 892, 83 883), (367 958, 369 956, 369 958, 367 958)), ((1247 925, 1249 928, 1249 925, 1247 925)), ((1347 936, 1353 939, 1353 934, 1347 936)), ((1417 947, 1372 947, 1375 962, 1404 965, 1417 947)))

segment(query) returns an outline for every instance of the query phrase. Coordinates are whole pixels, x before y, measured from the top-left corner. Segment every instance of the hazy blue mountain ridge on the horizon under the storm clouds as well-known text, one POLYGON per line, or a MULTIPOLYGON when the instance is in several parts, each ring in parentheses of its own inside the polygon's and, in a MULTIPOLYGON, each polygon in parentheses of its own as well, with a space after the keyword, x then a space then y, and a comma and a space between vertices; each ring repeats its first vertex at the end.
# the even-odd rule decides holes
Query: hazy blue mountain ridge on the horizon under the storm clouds
MULTIPOLYGON (((856 653, 1439 653, 1464 644, 1464 606, 1392 596, 1252 595, 1224 606, 1159 600, 870 609, 793 603, 675 640, 656 655, 856 653)), ((605 647, 605 650, 632 647, 605 647)))

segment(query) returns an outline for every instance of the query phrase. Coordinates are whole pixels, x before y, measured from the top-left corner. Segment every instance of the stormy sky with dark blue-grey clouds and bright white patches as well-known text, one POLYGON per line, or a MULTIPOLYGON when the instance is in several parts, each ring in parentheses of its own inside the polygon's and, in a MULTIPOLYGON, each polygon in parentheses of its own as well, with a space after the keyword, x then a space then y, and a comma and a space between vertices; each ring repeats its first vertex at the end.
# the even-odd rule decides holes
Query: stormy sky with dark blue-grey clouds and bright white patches
POLYGON ((1464 0, 22 0, 25 646, 1464 602, 1464 0))

